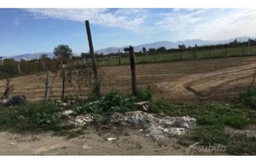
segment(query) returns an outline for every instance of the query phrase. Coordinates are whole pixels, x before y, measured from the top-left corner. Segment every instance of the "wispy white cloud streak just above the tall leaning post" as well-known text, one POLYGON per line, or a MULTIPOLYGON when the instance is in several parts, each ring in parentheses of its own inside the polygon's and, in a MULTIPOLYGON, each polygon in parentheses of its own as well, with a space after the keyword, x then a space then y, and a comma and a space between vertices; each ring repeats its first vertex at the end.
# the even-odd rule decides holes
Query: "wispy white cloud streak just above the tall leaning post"
POLYGON ((142 12, 143 9, 118 9, 111 11, 106 8, 29 8, 26 10, 31 13, 58 14, 62 19, 81 22, 89 20, 90 23, 125 29, 136 29, 145 19, 145 16, 135 15, 142 12))

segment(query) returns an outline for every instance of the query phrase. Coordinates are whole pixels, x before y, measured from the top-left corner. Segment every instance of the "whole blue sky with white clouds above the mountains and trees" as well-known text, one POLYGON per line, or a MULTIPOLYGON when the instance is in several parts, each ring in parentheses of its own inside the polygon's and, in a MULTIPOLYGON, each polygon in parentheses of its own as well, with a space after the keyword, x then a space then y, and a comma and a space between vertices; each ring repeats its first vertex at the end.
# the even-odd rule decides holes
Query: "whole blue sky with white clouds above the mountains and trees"
POLYGON ((85 20, 94 50, 256 36, 252 8, 0 8, 0 56, 53 52, 59 44, 88 52, 85 20))

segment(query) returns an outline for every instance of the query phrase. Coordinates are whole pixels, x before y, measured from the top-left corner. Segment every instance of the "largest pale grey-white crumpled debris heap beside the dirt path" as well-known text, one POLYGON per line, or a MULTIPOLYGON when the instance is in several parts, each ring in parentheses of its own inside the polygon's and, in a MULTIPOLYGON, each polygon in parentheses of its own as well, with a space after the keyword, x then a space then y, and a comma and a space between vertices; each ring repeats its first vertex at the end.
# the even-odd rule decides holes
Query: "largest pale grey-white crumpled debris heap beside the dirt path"
POLYGON ((183 117, 163 117, 159 119, 152 114, 143 111, 114 113, 110 118, 110 123, 120 125, 135 125, 144 127, 146 136, 151 136, 155 140, 165 140, 168 137, 180 136, 196 124, 196 119, 190 116, 183 117))

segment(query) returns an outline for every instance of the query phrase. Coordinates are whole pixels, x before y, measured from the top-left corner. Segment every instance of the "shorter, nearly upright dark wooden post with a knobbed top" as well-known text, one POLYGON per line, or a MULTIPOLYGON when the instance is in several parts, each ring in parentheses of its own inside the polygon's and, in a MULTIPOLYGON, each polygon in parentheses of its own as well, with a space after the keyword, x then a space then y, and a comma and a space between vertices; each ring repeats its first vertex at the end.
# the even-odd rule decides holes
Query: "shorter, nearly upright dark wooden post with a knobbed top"
POLYGON ((131 63, 131 87, 132 87, 132 95, 137 95, 137 84, 136 84, 136 67, 135 67, 135 60, 133 55, 133 47, 130 46, 129 49, 130 53, 130 63, 131 63))

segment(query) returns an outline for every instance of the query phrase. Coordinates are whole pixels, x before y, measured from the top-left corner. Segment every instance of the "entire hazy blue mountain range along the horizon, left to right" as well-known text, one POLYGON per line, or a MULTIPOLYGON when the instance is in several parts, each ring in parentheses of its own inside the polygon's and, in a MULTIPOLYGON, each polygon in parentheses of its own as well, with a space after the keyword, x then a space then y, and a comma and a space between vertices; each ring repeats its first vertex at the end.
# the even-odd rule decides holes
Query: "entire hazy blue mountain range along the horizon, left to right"
MULTIPOLYGON (((185 41, 177 41, 177 42, 172 42, 172 41, 158 41, 154 43, 147 43, 147 44, 141 44, 134 46, 134 51, 142 51, 142 48, 145 47, 147 50, 150 48, 159 48, 159 47, 165 47, 167 49, 171 48, 178 48, 178 45, 180 44, 185 44, 186 47, 191 46, 194 47, 195 44, 198 46, 200 45, 211 45, 211 44, 225 44, 234 41, 237 39, 240 42, 243 41, 248 41, 248 39, 255 39, 255 37, 237 37, 237 38, 232 38, 228 40, 218 40, 218 41, 213 41, 213 40, 201 40, 201 39, 191 39, 191 40, 185 40, 185 41)), ((100 49, 95 51, 95 53, 103 53, 103 54, 110 54, 110 53, 116 53, 118 50, 120 52, 123 52, 124 48, 127 48, 129 46, 124 46, 124 47, 109 47, 105 49, 100 49)), ((21 54, 21 55, 15 55, 15 56, 6 56, 4 58, 13 58, 16 61, 19 61, 20 59, 25 59, 25 60, 31 60, 31 59, 36 59, 39 58, 41 54, 46 53, 49 57, 54 57, 53 52, 41 52, 41 53, 27 53, 27 54, 21 54)), ((75 56, 80 56, 80 54, 74 53, 75 56)))

